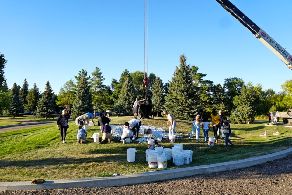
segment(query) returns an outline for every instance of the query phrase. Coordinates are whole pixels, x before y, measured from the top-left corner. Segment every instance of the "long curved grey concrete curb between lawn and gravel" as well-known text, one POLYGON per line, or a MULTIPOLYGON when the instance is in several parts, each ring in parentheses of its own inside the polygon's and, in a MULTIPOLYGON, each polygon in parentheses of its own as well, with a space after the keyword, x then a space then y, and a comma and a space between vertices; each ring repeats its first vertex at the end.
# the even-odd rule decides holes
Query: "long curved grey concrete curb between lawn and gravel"
POLYGON ((78 187, 113 187, 126 186, 139 183, 161 181, 179 177, 192 176, 196 174, 213 173, 219 171, 233 170, 238 168, 250 167, 283 158, 292 154, 292 148, 284 151, 267 154, 255 158, 239 161, 217 163, 212 165, 202 165, 196 167, 177 168, 171 170, 152 171, 137 173, 132 175, 122 175, 115 177, 96 177, 82 179, 61 179, 46 181, 43 184, 30 184, 30 182, 1 182, 0 191, 4 190, 38 190, 38 189, 61 189, 78 187))

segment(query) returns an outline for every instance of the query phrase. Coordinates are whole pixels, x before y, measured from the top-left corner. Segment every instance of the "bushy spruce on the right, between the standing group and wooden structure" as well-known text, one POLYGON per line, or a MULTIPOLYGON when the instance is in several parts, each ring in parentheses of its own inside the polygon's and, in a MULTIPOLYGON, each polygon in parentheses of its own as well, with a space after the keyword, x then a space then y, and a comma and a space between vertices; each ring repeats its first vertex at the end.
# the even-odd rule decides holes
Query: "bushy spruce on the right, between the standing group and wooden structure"
POLYGON ((240 90, 240 95, 234 97, 233 104, 236 108, 232 111, 229 120, 231 120, 232 123, 252 123, 254 121, 252 101, 248 88, 243 85, 240 90))

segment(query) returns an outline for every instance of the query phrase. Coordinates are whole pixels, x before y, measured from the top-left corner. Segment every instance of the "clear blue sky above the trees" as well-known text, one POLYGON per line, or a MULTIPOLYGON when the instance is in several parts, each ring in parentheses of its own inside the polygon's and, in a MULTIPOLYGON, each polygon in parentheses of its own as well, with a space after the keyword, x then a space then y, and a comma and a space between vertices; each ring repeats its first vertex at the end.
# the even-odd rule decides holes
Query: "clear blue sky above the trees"
MULTIPOLYGON (((292 53, 290 0, 231 0, 292 53)), ((99 67, 104 84, 124 69, 144 71, 144 1, 0 0, 0 52, 8 87, 53 92, 85 69, 99 67)), ((149 0, 148 73, 171 80, 179 55, 205 79, 229 77, 281 91, 292 71, 215 0, 149 0)))

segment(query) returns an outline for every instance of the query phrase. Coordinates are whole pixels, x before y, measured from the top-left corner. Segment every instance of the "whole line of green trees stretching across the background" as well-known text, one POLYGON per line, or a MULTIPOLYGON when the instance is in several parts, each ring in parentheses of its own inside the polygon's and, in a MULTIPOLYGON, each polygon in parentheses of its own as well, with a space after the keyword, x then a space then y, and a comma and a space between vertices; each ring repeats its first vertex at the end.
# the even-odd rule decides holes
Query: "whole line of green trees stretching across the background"
POLYGON ((207 74, 187 64, 186 59, 184 54, 179 56, 180 63, 171 81, 163 83, 158 75, 150 73, 146 87, 141 71, 129 73, 125 69, 119 80, 113 78, 110 86, 106 86, 99 67, 91 75, 82 69, 75 76, 76 82, 66 81, 57 95, 49 81, 42 93, 36 84, 29 89, 26 79, 22 87, 14 83, 9 89, 4 77, 7 61, 0 53, 0 111, 13 116, 23 115, 24 110, 36 111, 40 117, 52 117, 60 109, 67 109, 73 117, 78 117, 101 107, 128 116, 132 115, 135 98, 146 97, 148 103, 154 104, 156 116, 167 109, 177 119, 193 120, 199 109, 205 111, 204 117, 209 117, 212 109, 220 109, 233 123, 252 123, 256 116, 292 108, 292 80, 283 83, 283 91, 279 93, 263 90, 259 83, 245 84, 237 77, 226 78, 223 85, 214 84, 204 80, 207 74))

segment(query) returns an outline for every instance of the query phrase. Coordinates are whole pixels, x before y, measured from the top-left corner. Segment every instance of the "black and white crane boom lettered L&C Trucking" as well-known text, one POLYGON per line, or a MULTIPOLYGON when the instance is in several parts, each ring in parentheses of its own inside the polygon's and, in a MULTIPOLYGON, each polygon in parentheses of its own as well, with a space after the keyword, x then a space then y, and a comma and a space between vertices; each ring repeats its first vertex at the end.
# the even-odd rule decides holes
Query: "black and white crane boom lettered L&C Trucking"
POLYGON ((249 29, 255 38, 259 39, 267 48, 273 51, 288 68, 292 68, 292 55, 290 55, 286 48, 283 48, 272 37, 269 36, 264 30, 258 27, 251 19, 243 14, 235 5, 229 0, 216 0, 224 9, 226 9, 232 16, 249 29))

